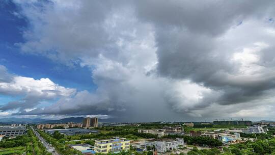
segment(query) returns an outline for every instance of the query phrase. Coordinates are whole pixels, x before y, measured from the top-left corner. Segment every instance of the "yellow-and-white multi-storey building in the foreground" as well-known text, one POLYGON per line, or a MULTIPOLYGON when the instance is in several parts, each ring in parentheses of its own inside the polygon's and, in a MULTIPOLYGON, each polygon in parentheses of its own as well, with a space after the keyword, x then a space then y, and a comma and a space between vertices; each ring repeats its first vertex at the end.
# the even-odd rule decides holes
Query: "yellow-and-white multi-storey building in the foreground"
POLYGON ((95 140, 94 151, 97 153, 117 153, 128 149, 130 149, 130 140, 126 138, 95 140))

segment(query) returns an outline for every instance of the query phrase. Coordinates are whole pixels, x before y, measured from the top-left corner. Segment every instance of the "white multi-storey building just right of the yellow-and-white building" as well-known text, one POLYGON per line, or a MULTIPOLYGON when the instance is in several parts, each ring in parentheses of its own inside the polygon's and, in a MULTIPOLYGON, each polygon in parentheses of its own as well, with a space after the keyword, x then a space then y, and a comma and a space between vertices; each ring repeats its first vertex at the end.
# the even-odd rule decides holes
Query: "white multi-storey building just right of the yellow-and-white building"
POLYGON ((160 140, 150 140, 145 141, 145 148, 147 146, 155 146, 158 152, 166 152, 169 150, 177 149, 179 147, 184 147, 184 141, 181 138, 176 139, 160 139, 160 140))

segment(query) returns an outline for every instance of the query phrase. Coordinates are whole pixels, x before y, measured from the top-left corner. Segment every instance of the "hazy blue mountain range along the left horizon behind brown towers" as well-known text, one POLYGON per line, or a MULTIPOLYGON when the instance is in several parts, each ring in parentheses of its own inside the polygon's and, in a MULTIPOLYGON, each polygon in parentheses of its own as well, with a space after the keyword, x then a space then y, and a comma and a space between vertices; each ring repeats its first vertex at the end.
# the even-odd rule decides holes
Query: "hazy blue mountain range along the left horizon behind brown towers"
MULTIPOLYGON (((1 118, 0 123, 2 124, 15 124, 15 123, 67 123, 67 122, 75 122, 75 123, 81 123, 83 121, 84 117, 68 117, 63 119, 57 119, 57 120, 46 120, 46 119, 31 119, 31 118, 1 118)), ((99 122, 116 122, 116 119, 110 118, 110 119, 99 119, 99 122)))

